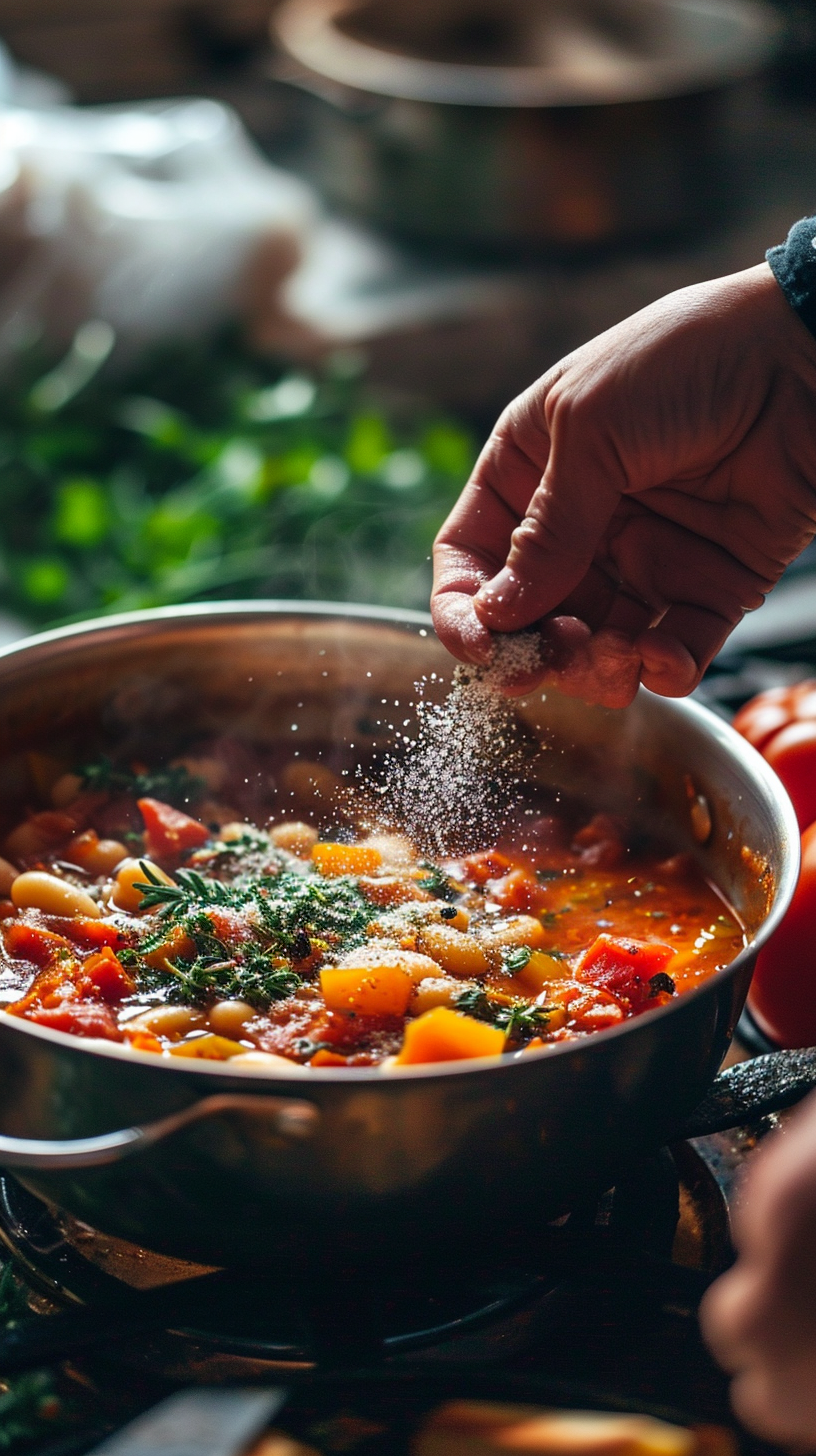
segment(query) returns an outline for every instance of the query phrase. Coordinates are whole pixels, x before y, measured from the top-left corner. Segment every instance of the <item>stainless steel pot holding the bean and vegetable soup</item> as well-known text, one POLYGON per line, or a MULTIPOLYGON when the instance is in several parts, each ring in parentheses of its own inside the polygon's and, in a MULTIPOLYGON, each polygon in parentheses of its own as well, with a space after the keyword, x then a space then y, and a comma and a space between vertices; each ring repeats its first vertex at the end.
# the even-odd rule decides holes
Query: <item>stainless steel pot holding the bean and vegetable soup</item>
MULTIPOLYGON (((0 654, 4 810, 13 820, 25 799, 32 747, 82 756, 147 744, 170 756, 195 732, 294 743, 296 724, 297 741, 354 760, 383 745, 383 699, 404 703, 420 676, 449 670, 428 619, 374 609, 236 603, 47 633, 0 654)), ((469 1239, 510 1217, 535 1227, 678 1136, 793 893, 793 810, 762 759, 695 703, 641 693, 613 713, 533 695, 519 711, 544 744, 539 780, 694 850, 752 936, 726 971, 584 1041, 392 1075, 182 1066, 0 1015, 0 1162, 95 1227, 154 1249, 213 1264, 372 1265, 420 1248, 430 1257, 434 1242, 466 1257, 469 1239), (705 844, 688 775, 711 812, 705 844)), ((812 1059, 787 1067, 790 1102, 813 1082, 812 1059)), ((697 1131, 729 1115, 714 1101, 697 1131)))

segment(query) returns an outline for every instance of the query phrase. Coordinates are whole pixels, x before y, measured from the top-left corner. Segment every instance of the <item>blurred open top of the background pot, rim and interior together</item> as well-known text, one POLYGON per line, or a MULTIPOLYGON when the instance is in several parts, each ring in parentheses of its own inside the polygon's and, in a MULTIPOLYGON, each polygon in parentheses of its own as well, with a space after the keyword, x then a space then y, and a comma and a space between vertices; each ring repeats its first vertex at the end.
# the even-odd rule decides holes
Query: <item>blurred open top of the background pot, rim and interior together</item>
POLYGON ((405 100, 578 106, 704 90, 756 71, 756 0, 284 0, 283 50, 313 74, 405 100))

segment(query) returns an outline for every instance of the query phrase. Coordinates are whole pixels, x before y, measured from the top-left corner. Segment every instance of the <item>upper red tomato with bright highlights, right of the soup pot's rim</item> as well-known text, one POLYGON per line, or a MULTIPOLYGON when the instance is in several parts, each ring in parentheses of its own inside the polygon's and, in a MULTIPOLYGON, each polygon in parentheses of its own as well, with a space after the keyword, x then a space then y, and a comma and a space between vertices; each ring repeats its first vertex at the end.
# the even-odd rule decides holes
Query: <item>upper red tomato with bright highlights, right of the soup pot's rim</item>
POLYGON ((734 718, 748 738, 778 773, 788 791, 799 827, 816 820, 816 681, 759 693, 734 718))

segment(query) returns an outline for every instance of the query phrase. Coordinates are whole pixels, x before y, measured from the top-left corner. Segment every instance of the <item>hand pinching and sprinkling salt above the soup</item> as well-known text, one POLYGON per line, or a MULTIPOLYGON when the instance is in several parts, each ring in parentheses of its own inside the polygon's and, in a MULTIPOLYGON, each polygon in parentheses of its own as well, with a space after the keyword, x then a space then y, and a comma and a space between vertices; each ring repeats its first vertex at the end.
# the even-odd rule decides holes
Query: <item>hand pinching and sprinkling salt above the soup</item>
POLYGON ((437 537, 434 625, 487 662, 491 633, 546 619, 536 680, 683 696, 815 533, 816 341, 761 264, 660 298, 504 411, 437 537))

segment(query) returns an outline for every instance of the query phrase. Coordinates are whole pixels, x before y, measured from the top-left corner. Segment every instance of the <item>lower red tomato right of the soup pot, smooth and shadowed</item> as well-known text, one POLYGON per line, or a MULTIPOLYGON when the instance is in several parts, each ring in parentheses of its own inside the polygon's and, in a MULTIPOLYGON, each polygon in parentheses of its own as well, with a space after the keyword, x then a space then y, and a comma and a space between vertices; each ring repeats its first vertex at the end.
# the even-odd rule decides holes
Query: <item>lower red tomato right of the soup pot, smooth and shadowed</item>
POLYGON ((748 1003, 780 1047, 816 1045, 816 824, 801 836, 799 885, 756 958, 748 1003))

